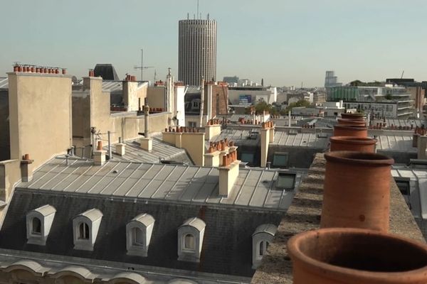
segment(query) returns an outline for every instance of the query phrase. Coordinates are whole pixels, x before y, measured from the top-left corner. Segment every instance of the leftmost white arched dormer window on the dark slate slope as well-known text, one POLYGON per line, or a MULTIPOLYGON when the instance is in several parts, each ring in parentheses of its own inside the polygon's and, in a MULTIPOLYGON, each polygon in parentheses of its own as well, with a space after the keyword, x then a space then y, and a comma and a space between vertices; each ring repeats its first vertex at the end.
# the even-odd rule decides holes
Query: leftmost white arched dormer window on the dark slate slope
POLYGON ((28 244, 38 244, 40 246, 46 244, 55 214, 56 209, 51 205, 43 205, 28 212, 26 215, 28 244))

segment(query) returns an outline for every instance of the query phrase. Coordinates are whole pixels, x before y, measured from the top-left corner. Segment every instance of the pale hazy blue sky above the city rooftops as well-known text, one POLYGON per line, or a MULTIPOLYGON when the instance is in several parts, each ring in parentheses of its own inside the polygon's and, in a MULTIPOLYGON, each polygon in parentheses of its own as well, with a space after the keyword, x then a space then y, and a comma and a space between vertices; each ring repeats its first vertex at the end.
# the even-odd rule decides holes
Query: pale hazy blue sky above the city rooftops
MULTIPOLYGON (((0 77, 14 62, 59 66, 77 77, 111 63, 120 78, 178 77, 178 21, 197 0, 1 0, 0 77)), ((427 80, 426 0, 199 0, 217 21, 217 80, 274 86, 427 80)))

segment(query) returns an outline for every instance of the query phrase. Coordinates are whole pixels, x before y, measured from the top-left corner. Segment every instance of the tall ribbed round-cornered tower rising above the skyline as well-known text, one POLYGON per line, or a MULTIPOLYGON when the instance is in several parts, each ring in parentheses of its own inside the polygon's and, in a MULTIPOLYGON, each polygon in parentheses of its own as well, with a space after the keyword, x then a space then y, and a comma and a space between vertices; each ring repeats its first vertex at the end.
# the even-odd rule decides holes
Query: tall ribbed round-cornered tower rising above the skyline
POLYGON ((201 77, 216 80, 216 21, 179 21, 178 80, 198 86, 201 77))

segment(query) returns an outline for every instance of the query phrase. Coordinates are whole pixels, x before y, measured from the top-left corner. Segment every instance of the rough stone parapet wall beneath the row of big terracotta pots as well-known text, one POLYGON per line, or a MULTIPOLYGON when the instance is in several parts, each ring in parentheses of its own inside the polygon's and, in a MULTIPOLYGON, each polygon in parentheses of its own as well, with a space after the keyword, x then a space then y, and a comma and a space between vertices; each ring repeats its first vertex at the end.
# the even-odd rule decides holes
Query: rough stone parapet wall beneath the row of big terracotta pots
MULTIPOLYGON (((302 180, 288 212, 280 222, 273 243, 268 246, 263 262, 255 271, 251 283, 292 283, 292 262, 288 256, 286 243, 291 236, 302 231, 319 229, 325 165, 326 161, 323 158, 323 154, 318 153, 310 166, 306 178, 302 180)), ((417 241, 425 241, 396 182, 394 182, 393 178, 391 178, 390 182, 389 232, 416 239, 417 241)))

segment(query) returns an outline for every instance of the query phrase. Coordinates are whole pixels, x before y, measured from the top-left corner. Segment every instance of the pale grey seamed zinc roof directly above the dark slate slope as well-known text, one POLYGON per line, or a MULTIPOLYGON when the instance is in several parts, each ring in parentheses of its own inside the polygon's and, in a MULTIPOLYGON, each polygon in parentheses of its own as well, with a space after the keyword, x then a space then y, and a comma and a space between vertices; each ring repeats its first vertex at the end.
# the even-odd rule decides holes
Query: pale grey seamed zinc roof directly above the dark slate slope
MULTIPOLYGON (((53 158, 38 168, 31 182, 16 188, 67 195, 108 196, 120 200, 151 200, 285 212, 294 192, 275 187, 278 172, 241 169, 228 197, 218 196, 218 169, 110 161, 95 166, 86 160, 53 158)), ((297 180, 301 174, 297 174, 297 180)))

